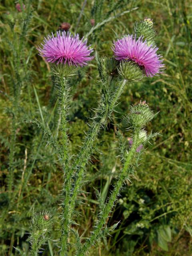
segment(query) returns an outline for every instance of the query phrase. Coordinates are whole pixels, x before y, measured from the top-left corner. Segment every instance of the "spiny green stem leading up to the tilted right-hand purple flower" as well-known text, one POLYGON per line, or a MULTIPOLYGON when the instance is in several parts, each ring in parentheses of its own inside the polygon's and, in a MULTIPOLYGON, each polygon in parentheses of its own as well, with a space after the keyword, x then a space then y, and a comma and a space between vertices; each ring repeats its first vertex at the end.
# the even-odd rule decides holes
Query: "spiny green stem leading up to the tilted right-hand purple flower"
POLYGON ((64 229, 62 228, 62 240, 61 240, 61 251, 60 251, 60 256, 65 256, 66 251, 67 251, 67 235, 68 235, 68 230, 70 226, 70 220, 72 218, 72 214, 74 212, 75 204, 76 204, 76 198, 78 196, 78 193, 80 191, 80 188, 82 187, 82 179, 84 177, 84 169, 86 167, 86 164, 88 162, 88 159, 90 157, 90 154, 92 152, 92 147, 94 145, 94 142, 98 136, 98 133, 101 129, 101 127, 106 124, 107 117, 109 116, 109 110, 114 108, 118 98, 120 97, 120 94, 122 93, 124 86, 126 84, 126 81, 124 80, 122 84, 119 86, 118 90, 116 91, 114 98, 112 102, 110 102, 110 105, 106 104, 106 110, 103 114, 102 117, 100 117, 100 120, 98 122, 94 122, 94 126, 90 128, 88 134, 86 135, 85 142, 82 146, 82 150, 80 154, 78 155, 78 158, 76 159, 74 165, 72 168, 69 170, 67 173, 66 177, 66 198, 64 199, 64 206, 65 206, 65 227, 64 229), (72 191, 72 197, 70 200, 70 190, 71 190, 71 178, 72 174, 76 170, 78 172, 76 182, 74 184, 74 190, 72 191), (69 205, 70 204, 70 205, 69 205))

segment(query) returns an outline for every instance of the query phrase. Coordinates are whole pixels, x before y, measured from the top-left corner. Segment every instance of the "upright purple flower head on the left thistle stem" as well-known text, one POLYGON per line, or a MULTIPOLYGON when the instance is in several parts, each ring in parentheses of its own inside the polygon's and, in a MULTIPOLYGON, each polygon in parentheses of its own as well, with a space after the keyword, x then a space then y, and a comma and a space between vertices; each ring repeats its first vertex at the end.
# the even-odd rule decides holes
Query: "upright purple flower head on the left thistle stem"
POLYGON ((83 42, 80 40, 79 35, 72 36, 70 33, 57 32, 57 35, 44 39, 42 48, 38 46, 40 55, 46 58, 46 62, 56 62, 56 64, 64 63, 69 66, 84 66, 87 61, 92 60, 94 57, 90 56, 93 49, 88 49, 86 46, 87 40, 83 42))

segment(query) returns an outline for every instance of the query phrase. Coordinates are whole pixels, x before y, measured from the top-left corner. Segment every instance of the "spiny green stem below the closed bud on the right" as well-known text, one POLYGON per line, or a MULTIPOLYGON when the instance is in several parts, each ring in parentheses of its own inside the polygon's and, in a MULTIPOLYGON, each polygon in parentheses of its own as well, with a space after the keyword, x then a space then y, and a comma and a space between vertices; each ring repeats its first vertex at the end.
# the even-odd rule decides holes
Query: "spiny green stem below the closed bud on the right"
POLYGON ((80 252, 77 254, 77 256, 85 256, 86 252, 88 252, 88 249, 90 246, 96 243, 97 239, 100 237, 100 234, 102 232, 102 229, 104 227, 104 224, 106 223, 106 220, 109 216, 109 213, 111 212, 114 203, 118 197, 118 194, 120 192, 120 189, 122 188, 123 182, 127 176, 127 171, 130 166, 130 163, 132 162, 132 158, 135 154, 136 148, 139 144, 139 138, 138 138, 139 130, 135 130, 134 132, 134 142, 132 144, 132 148, 127 154, 126 162, 124 164, 124 167, 122 168, 122 171, 120 173, 120 176, 118 177, 118 181, 116 185, 114 186, 114 190, 108 200, 108 203, 105 205, 104 209, 102 210, 102 213, 99 217, 98 224, 94 228, 90 238, 87 239, 86 243, 80 249, 80 252))

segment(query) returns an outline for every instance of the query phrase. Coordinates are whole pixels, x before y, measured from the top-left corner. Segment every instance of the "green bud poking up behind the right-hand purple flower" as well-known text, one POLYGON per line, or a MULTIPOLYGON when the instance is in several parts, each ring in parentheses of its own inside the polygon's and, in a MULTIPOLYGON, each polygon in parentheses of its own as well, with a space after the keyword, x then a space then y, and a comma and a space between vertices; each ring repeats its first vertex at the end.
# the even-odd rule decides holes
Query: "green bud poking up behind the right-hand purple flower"
POLYGON ((148 46, 151 44, 155 46, 155 35, 156 32, 153 28, 153 22, 149 18, 145 18, 140 22, 135 22, 134 30, 137 37, 143 36, 144 40, 147 40, 148 46))

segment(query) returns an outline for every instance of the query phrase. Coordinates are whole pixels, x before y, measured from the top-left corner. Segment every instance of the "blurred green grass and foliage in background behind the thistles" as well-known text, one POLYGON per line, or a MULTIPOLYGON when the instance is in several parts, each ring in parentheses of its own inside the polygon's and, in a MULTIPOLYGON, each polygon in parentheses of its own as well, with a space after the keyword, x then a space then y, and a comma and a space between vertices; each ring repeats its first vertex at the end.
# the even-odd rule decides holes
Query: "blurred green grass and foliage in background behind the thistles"
MULTIPOLYGON (((20 4, 22 5, 21 1, 20 4)), ((60 122, 57 92, 50 76, 50 67, 36 50, 44 36, 60 29, 62 22, 71 24, 70 31, 85 36, 96 29, 88 40, 98 54, 112 56, 111 46, 116 34, 133 32, 136 20, 152 18, 156 43, 164 56, 166 70, 159 77, 130 84, 116 107, 114 120, 100 135, 97 151, 88 166, 88 176, 78 206, 82 217, 79 232, 84 236, 96 216, 96 196, 93 187, 101 189, 106 198, 112 187, 116 160, 116 124, 130 104, 146 100, 159 112, 149 130, 160 132, 142 154, 142 164, 131 177, 122 197, 108 220, 120 224, 112 237, 100 241, 91 255, 122 256, 190 256, 192 254, 192 181, 191 181, 191 3, 190 0, 54 0, 32 1, 28 28, 26 10, 18 12, 16 3, 3 0, 0 6, 0 255, 18 255, 20 247, 29 251, 30 218, 34 211, 48 210, 55 218, 59 214, 59 190, 62 172, 45 136, 29 121, 48 122, 57 134, 60 122), (85 3, 85 5, 84 5, 85 3), (130 12, 128 12, 130 11, 130 12), (116 16, 116 18, 115 18, 116 16), (114 17, 114 18, 112 18, 114 17), (97 25, 99 26, 97 27, 97 25), (22 37, 23 36, 23 37, 22 37), (18 50, 15 50, 15 49, 18 50), (22 50, 21 50, 22 49, 22 50), (19 52, 19 56, 17 53, 19 52), (20 82, 19 82, 20 81, 20 82), (13 100, 19 88, 17 104, 13 100), (15 116, 15 137, 13 136, 15 116), (14 150, 11 141, 15 141, 14 150), (10 152, 14 152, 10 158, 10 152), (99 154, 102 152, 103 154, 99 154), (8 172, 14 177, 12 199, 8 197, 8 172)), ((98 100, 96 61, 82 68, 71 82, 71 108, 68 122, 70 147, 78 152, 88 129, 87 118, 98 100), (87 118, 85 118, 87 117, 87 118)), ((126 136, 129 137, 126 132, 126 136)), ((52 238, 57 239, 59 223, 55 222, 52 238)), ((72 241, 70 241, 72 242, 72 241)), ((43 255, 56 255, 58 248, 48 240, 43 255), (55 254, 53 254, 53 252, 55 254)), ((71 252, 72 253, 72 252, 71 252)))

